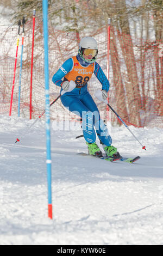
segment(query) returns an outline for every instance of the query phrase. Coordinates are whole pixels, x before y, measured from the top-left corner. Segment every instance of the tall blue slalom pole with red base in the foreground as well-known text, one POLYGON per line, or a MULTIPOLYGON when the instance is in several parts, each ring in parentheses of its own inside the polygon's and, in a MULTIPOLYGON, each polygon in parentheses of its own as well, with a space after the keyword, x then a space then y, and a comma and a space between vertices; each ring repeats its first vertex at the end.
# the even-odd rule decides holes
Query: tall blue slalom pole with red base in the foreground
POLYGON ((47 146, 47 182, 48 182, 48 217, 52 215, 52 160, 51 160, 51 129, 50 129, 50 103, 49 103, 49 68, 48 68, 48 1, 42 0, 43 9, 43 39, 45 58, 45 97, 46 97, 46 146, 47 146))

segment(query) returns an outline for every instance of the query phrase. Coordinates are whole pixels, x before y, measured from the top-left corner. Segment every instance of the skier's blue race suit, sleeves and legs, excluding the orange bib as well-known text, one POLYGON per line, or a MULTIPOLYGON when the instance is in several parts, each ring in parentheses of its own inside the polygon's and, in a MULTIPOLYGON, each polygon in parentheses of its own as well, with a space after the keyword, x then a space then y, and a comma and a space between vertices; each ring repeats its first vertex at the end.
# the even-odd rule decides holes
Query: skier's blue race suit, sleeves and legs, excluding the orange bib
MULTIPOLYGON (((79 54, 76 56, 76 59, 82 67, 92 65, 84 62, 79 54)), ((53 83, 61 87, 61 83, 63 82, 62 78, 64 77, 64 81, 67 80, 65 76, 72 71, 74 65, 78 65, 78 63, 74 63, 73 58, 67 59, 64 64, 62 64, 61 68, 54 74, 52 78, 53 83)), ((101 66, 99 66, 97 62, 95 62, 93 65, 93 73, 97 77, 98 81, 101 82, 102 89, 108 92, 110 84, 103 70, 101 69, 101 66)), ((87 82, 79 85, 80 86, 77 84, 77 87, 71 92, 67 92, 60 97, 62 104, 71 112, 78 114, 82 118, 82 129, 86 142, 95 142, 97 133, 99 140, 103 144, 106 146, 111 145, 112 139, 109 135, 108 129, 103 120, 100 118, 95 101, 93 101, 92 96, 87 91, 87 82)))

